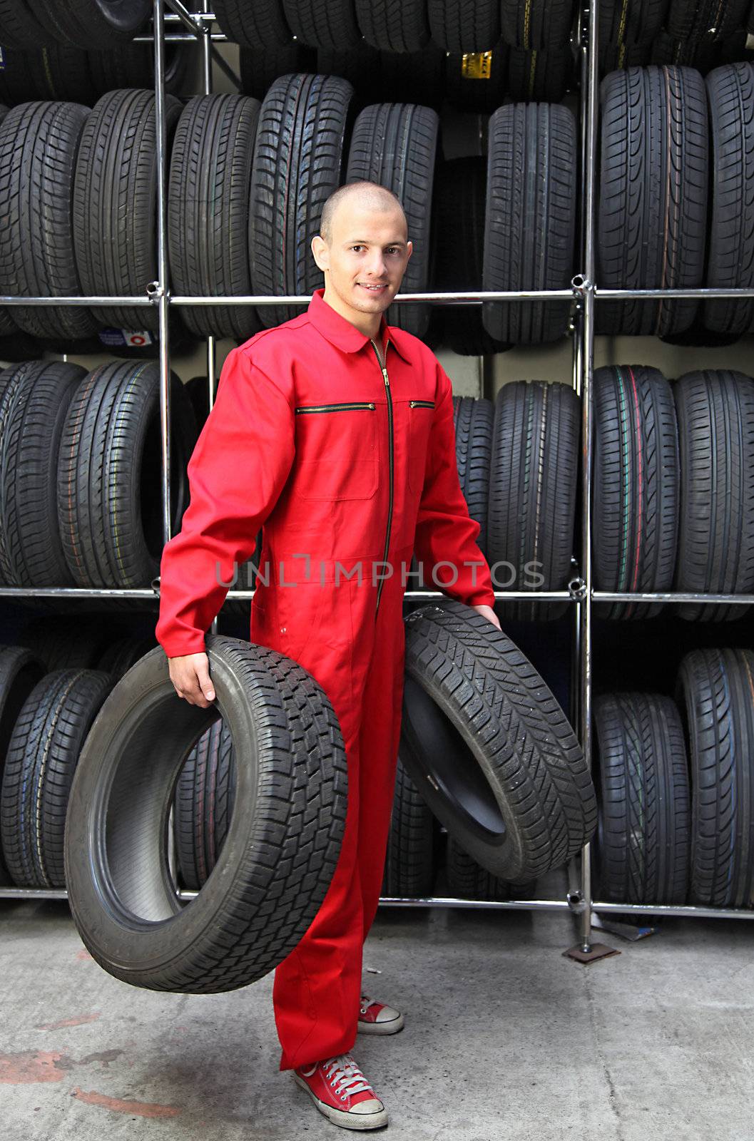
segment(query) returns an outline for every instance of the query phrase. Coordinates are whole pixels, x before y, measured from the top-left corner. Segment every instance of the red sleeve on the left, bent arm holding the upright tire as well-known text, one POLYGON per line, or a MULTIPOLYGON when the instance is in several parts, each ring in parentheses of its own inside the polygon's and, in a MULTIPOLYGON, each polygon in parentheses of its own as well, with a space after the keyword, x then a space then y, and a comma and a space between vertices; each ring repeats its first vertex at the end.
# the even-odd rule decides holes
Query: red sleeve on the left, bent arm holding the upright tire
POLYGON ((290 385, 286 395, 242 348, 226 357, 188 461, 190 501, 160 563, 155 637, 168 657, 204 650, 234 570, 253 553, 287 479, 295 451, 290 385))

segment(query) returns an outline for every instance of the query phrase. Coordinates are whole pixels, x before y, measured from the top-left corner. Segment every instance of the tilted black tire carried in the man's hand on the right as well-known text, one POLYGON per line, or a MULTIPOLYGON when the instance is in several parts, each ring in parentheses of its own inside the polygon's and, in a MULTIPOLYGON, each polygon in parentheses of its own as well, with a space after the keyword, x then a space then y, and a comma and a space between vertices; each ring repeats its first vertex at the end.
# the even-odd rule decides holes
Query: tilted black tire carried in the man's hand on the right
POLYGON ((517 646, 453 599, 406 618, 400 755, 432 812, 504 880, 560 867, 597 826, 586 762, 517 646))

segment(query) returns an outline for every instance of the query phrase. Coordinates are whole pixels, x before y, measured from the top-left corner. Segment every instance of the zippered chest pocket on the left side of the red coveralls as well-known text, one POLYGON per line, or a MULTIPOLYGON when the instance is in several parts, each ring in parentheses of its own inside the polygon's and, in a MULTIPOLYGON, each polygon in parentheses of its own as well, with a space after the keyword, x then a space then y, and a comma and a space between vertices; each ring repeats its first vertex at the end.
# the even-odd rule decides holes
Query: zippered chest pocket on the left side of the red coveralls
POLYGON ((305 500, 372 499, 380 478, 376 421, 371 400, 299 405, 293 494, 305 500))

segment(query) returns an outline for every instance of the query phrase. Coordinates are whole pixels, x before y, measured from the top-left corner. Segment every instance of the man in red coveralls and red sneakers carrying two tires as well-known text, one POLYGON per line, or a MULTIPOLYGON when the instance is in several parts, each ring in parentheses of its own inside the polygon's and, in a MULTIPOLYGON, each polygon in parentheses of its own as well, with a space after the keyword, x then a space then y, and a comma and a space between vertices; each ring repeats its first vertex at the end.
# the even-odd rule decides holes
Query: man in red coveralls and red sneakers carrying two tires
POLYGON ((321 226, 311 249, 324 291, 225 362, 188 464, 190 503, 163 550, 156 636, 178 695, 206 707, 204 632, 264 524, 268 581, 253 596, 251 641, 322 685, 348 759, 335 873, 275 972, 279 1068, 330 1120, 364 1130, 388 1118, 350 1054, 356 1033, 404 1022, 360 985, 395 790, 412 553, 425 582, 500 623, 459 482, 451 381, 422 341, 383 317, 412 253, 400 203, 373 183, 350 184, 331 195, 321 226))

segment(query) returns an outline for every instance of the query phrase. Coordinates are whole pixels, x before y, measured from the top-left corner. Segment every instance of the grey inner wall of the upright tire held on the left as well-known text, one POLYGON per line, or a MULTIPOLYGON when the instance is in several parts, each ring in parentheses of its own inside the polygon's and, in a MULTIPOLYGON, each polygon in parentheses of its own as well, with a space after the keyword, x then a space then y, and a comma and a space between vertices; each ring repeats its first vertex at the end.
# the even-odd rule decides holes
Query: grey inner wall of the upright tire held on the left
POLYGON ((219 717, 219 709, 188 705, 173 693, 125 730, 95 842, 104 857, 102 887, 130 923, 169 920, 184 909, 168 865, 168 819, 186 756, 219 717))

